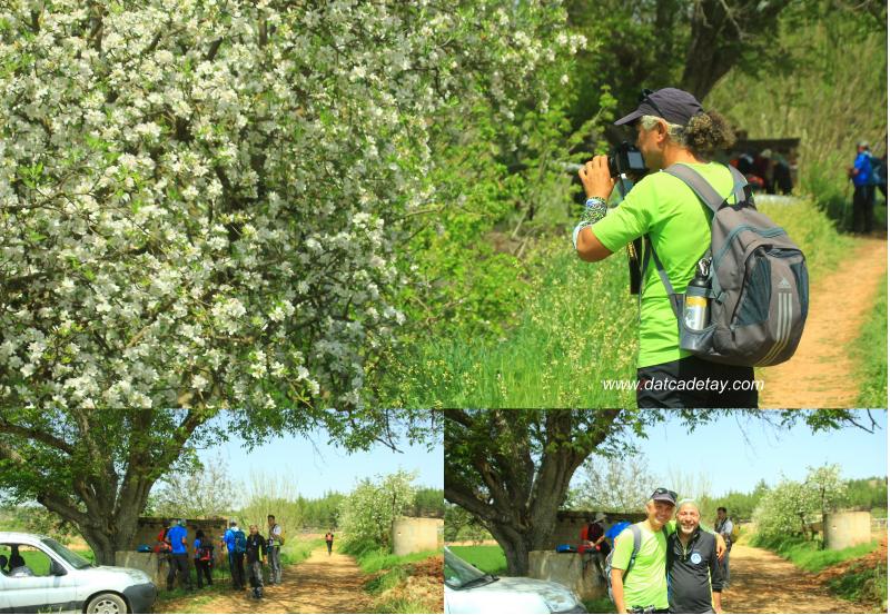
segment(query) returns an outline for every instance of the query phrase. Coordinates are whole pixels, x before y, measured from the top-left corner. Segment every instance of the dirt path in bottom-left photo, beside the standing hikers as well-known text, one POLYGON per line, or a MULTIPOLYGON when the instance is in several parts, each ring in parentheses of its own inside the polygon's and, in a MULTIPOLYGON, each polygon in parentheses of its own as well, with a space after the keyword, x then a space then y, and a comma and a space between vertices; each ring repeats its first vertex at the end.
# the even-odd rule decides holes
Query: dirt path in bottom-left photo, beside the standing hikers
POLYGON ((166 613, 368 613, 372 604, 362 588, 364 581, 352 557, 336 550, 328 556, 322 547, 285 568, 281 585, 266 587, 260 601, 249 592, 231 591, 197 607, 191 598, 166 603, 162 608, 166 613))

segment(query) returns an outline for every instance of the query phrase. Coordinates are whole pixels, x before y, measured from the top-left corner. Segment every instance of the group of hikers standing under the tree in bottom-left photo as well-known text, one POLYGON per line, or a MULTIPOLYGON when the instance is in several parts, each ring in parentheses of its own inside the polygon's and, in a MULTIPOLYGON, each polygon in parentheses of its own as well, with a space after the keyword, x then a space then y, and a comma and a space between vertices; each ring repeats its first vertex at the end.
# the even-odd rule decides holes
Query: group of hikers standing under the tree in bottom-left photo
MULTIPOLYGON (((280 585, 281 583, 281 546, 285 544, 284 530, 276 523, 275 515, 267 517, 268 537, 259 533, 257 525, 250 525, 248 534, 238 527, 238 523, 233 520, 229 528, 221 537, 220 548, 225 547, 228 556, 229 572, 231 573, 231 586, 234 589, 243 591, 245 585, 245 561, 249 573, 253 596, 257 599, 263 597, 263 566, 268 563, 269 585, 280 585)), ((179 519, 172 527, 166 523, 161 533, 158 535, 158 552, 167 555, 169 564, 167 573, 167 591, 172 591, 176 577, 179 577, 179 586, 186 589, 194 589, 191 574, 188 564, 188 529, 186 520, 179 519)), ((192 558, 198 577, 198 588, 204 587, 205 581, 208 585, 214 584, 211 569, 214 565, 214 540, 198 529, 195 533, 192 543, 192 558)))

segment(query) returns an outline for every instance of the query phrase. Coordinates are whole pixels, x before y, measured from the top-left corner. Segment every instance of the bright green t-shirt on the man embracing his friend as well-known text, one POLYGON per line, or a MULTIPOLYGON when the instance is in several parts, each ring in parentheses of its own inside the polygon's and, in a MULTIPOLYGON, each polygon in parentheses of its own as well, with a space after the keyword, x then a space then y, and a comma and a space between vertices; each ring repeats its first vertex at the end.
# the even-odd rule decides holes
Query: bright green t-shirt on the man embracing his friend
MULTIPOLYGON (((624 577, 624 606, 649 606, 668 608, 668 539, 659 529, 652 533, 649 523, 635 524, 640 528, 640 550, 633 568, 624 577)), ((676 530, 676 522, 670 520, 664 526, 668 535, 676 530)), ((626 571, 633 554, 633 532, 625 528, 615 538, 615 553, 612 555, 612 567, 626 571)))

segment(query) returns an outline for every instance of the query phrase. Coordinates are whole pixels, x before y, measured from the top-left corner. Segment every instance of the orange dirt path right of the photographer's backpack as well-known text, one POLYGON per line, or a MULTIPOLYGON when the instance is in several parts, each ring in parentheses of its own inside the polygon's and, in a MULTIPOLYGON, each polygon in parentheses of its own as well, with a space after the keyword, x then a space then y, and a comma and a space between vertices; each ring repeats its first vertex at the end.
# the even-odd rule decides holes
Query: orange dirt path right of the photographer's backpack
POLYGON ((852 256, 810 288, 810 313, 794 357, 764 369, 761 408, 850 408, 859 383, 852 341, 887 272, 887 239, 862 238, 852 256))

